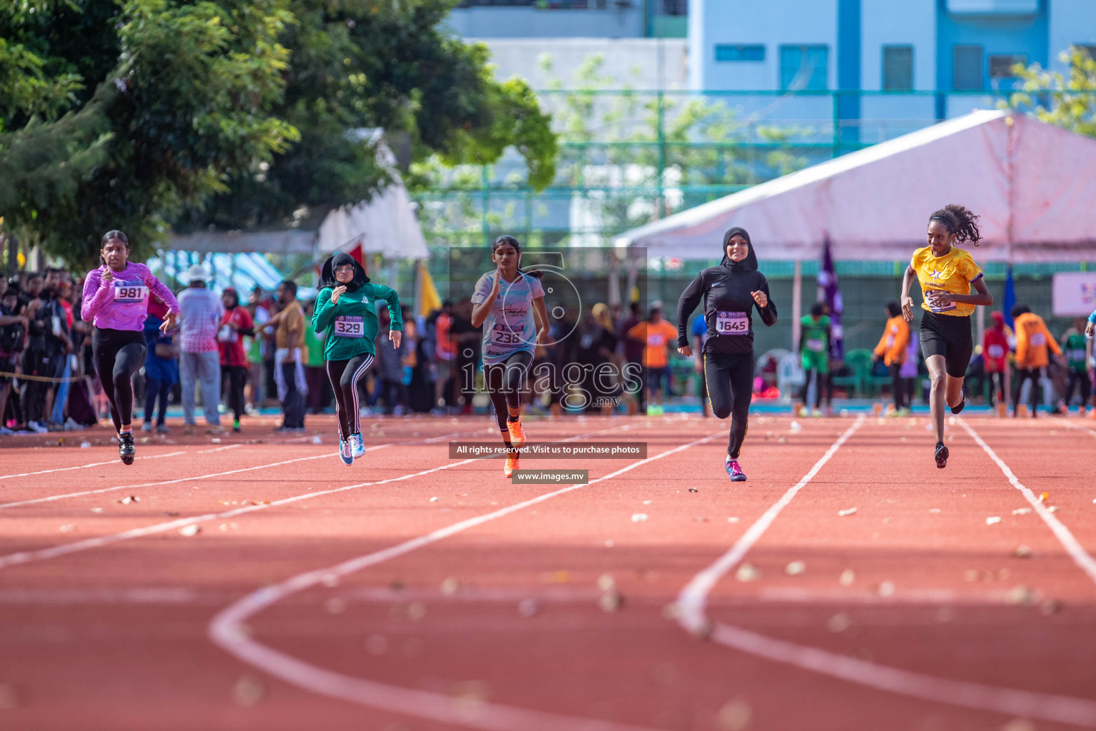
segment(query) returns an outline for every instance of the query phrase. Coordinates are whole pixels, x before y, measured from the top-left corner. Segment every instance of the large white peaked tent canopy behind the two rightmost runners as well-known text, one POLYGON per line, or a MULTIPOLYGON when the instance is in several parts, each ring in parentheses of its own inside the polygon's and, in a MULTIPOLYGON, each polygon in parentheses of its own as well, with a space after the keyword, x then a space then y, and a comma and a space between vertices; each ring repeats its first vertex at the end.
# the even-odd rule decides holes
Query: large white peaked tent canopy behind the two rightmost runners
POLYGON ((981 216, 979 261, 1096 259, 1096 140, 1008 111, 973 112, 632 229, 617 245, 708 260, 728 228, 761 259, 905 261, 948 203, 981 216))

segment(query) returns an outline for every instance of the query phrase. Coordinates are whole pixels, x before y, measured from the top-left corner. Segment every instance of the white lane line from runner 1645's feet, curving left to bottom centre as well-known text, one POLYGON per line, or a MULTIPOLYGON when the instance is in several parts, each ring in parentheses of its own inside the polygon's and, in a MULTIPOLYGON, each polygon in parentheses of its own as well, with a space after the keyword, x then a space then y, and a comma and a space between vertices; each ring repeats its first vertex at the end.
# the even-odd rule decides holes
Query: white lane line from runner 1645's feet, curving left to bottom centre
MULTIPOLYGON (((722 436, 722 432, 632 462, 605 477, 593 479, 589 484, 604 482, 605 480, 624 475, 636 467, 669 457, 689 447, 709 442, 718 436, 722 436)), ((532 505, 537 505, 558 495, 585 487, 589 486, 572 484, 560 488, 559 490, 537 495, 536 498, 502 507, 491 513, 454 523, 424 536, 406 540, 402 544, 343 561, 331 568, 309 571, 273 586, 265 586, 241 597, 217 613, 209 623, 207 633, 215 644, 229 654, 287 683, 320 695, 342 698, 393 713, 473 729, 488 729, 490 731, 639 731, 637 727, 612 721, 547 713, 498 704, 483 703, 470 706, 467 703, 461 703, 459 699, 441 693, 414 690, 386 683, 366 681, 351 675, 343 675, 342 673, 312 665, 259 642, 249 636, 247 626, 244 625, 249 618, 266 607, 292 594, 315 586, 329 576, 345 575, 383 563, 468 530, 469 528, 475 528, 490 521, 504 517, 511 513, 516 513, 532 505)))

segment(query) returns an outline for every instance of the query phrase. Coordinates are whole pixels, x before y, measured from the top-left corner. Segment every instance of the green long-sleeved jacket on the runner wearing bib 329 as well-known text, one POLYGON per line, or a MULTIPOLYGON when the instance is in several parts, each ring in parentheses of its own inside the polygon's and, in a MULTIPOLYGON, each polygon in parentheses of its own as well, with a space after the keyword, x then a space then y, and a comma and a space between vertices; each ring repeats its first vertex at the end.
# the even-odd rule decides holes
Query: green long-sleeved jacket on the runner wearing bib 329
POLYGON ((328 361, 349 361, 362 353, 376 355, 373 341, 377 339, 380 327, 377 320, 378 299, 388 302, 388 312, 392 319, 389 330, 403 330, 400 296, 395 289, 369 282, 356 292, 344 292, 334 305, 331 302, 331 287, 320 289, 316 298, 316 312, 312 315, 312 329, 316 332, 326 330, 328 333, 323 343, 323 357, 328 361))

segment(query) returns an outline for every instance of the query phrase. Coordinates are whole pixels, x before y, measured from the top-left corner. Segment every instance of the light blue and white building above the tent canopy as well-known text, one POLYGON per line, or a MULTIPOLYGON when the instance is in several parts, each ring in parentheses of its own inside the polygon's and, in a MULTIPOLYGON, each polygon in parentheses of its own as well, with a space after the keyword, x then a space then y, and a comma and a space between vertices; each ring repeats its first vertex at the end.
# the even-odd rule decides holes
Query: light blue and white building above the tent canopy
MULTIPOLYGON (((695 91, 945 92, 911 96, 911 112, 943 118, 968 111, 952 92, 1007 92, 1016 62, 1061 70, 1069 46, 1096 49, 1096 2, 694 0, 688 26, 695 91)), ((882 112, 852 94, 842 106, 842 118, 882 112)))

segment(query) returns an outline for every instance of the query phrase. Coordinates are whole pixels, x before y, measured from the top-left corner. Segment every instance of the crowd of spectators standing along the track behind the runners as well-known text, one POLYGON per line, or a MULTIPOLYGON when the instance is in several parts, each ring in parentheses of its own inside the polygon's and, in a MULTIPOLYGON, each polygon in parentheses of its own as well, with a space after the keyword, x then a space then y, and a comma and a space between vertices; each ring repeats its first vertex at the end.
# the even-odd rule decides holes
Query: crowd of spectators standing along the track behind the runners
MULTIPOLYGON (((282 282, 274 292, 254 288, 246 301, 233 288, 215 292, 202 265, 191 266, 178 294, 181 318, 175 332, 159 330, 167 307, 155 296, 145 325, 147 355, 134 377, 135 411, 141 430, 167 434, 169 404, 181 407, 182 429, 205 433, 243 429, 259 409, 279 408, 281 430, 302 432, 309 413, 330 411, 333 393, 323 367, 323 334, 311 328, 313 301, 298 299, 297 285, 282 282)), ((91 325, 80 319, 82 283, 64 269, 25 272, 0 279, 0 434, 79 430, 106 415, 106 403, 91 358, 91 325)), ((362 380, 362 411, 400 415, 410 412, 459 414, 488 409, 482 395, 482 332, 471 323, 468 299, 443 302, 427 316, 404 307, 404 338, 399 349, 388 342, 389 313, 378 305, 377 361, 362 380), (380 340, 384 342, 380 342, 380 340)), ((882 313, 883 334, 875 352, 864 353, 866 378, 891 386, 892 413, 906 413, 915 398, 918 368, 916 333, 894 304, 882 313)), ((991 404, 1012 402, 1021 393, 1030 412, 1037 401, 1052 410, 1080 398, 1091 403, 1093 354, 1078 321, 1055 339, 1044 321, 1025 306, 1002 312, 975 349, 968 378, 970 392, 985 393, 991 404), (1025 384, 1031 384, 1024 391, 1025 384)), ((700 352, 703 318, 688 328, 700 352)), ((881 318, 882 323, 882 318, 881 318)), ((829 357, 829 313, 815 306, 801 322, 798 353, 806 373, 798 393, 803 409, 819 414, 835 382, 847 376, 855 351, 845 362, 829 357), (834 377, 836 374, 836 378, 834 377), (808 389, 813 403, 808 403, 808 389)), ((660 413, 667 396, 692 395, 705 404, 703 369, 677 356, 677 328, 664 318, 661 302, 643 311, 596 304, 575 318, 553 308, 548 342, 538 345, 529 369, 526 400, 532 413, 613 413, 626 410, 660 413)), ((758 358, 755 392, 775 391, 775 361, 758 358)), ((846 378, 847 379, 847 378, 846 378)))

